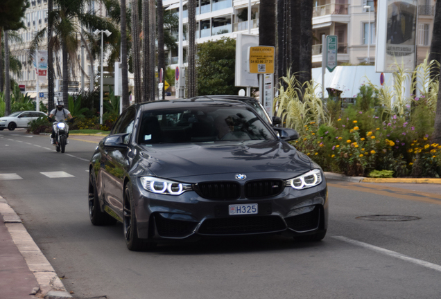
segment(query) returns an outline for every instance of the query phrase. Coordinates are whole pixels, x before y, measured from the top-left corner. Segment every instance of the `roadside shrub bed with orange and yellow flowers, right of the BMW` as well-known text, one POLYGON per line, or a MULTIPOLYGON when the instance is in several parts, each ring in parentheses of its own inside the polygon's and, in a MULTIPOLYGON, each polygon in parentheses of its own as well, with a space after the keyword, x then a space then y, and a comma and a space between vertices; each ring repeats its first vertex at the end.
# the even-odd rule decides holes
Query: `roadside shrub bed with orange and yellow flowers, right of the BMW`
MULTIPOLYGON (((434 82, 431 84, 435 86, 434 82)), ((433 99, 424 94, 420 98, 406 98, 401 93, 404 100, 396 106, 388 105, 385 98, 398 96, 393 91, 395 87, 389 91, 383 87, 386 90, 375 93, 372 88, 361 87, 356 104, 341 110, 341 117, 337 120, 333 115, 338 114, 338 109, 331 114, 328 123, 314 120, 303 122, 300 127, 301 122, 299 125, 286 121, 288 127, 300 127, 303 134, 293 145, 325 171, 366 176, 374 170, 387 170, 397 177, 439 177, 441 145, 431 141, 435 121, 433 99)), ((279 94, 283 96, 283 93, 279 94)), ((284 119, 289 120, 288 115, 294 114, 293 110, 284 108, 283 98, 279 101, 277 109, 282 108, 284 119)), ((297 105, 301 104, 297 101, 297 105)))

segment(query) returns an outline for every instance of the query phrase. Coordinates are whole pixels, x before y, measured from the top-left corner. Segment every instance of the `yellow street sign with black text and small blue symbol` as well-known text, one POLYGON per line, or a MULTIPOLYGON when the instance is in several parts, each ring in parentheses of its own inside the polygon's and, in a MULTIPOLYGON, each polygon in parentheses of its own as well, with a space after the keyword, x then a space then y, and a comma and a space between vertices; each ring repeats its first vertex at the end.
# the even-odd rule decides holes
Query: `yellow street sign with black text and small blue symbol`
POLYGON ((273 46, 254 46, 248 48, 250 73, 274 73, 274 52, 273 46))

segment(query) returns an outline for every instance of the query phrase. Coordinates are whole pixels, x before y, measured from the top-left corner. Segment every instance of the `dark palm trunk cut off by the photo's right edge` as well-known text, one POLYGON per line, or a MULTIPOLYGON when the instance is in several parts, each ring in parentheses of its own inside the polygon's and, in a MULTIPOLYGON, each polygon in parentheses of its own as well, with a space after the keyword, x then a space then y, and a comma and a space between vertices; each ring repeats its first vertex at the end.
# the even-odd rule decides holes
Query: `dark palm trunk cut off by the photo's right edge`
MULTIPOLYGON (((429 62, 431 60, 441 60, 441 1, 436 1, 435 6, 435 19, 433 21, 433 34, 432 34, 432 44, 431 44, 431 54, 429 55, 429 62)), ((432 71, 433 72, 433 71, 432 71)), ((441 78, 441 73, 438 70, 437 73, 433 72, 433 77, 438 75, 438 79, 441 78)), ((439 80, 441 83, 441 80, 439 80)), ((438 83, 438 84, 439 84, 438 83)), ((438 101, 436 105, 435 114, 435 132, 433 132, 433 141, 435 143, 441 143, 441 92, 438 92, 438 101)))

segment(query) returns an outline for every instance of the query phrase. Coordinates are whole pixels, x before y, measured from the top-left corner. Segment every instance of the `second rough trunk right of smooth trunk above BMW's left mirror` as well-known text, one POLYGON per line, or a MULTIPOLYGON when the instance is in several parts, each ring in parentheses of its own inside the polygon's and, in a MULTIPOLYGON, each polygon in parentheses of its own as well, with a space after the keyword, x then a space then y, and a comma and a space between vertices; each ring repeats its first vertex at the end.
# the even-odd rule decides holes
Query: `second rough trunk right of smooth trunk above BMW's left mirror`
POLYGON ((142 1, 142 30, 143 30, 143 46, 142 46, 142 62, 143 62, 143 82, 142 82, 142 101, 147 102, 150 99, 150 1, 142 1))

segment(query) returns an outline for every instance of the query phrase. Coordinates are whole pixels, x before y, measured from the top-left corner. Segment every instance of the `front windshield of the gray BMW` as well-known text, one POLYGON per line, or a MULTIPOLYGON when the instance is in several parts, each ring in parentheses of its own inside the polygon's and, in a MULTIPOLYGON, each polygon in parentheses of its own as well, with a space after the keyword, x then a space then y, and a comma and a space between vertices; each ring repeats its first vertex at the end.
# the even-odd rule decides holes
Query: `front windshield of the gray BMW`
POLYGON ((145 111, 140 144, 273 139, 261 120, 244 107, 209 106, 145 111))

